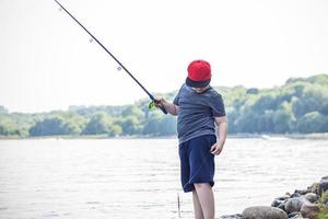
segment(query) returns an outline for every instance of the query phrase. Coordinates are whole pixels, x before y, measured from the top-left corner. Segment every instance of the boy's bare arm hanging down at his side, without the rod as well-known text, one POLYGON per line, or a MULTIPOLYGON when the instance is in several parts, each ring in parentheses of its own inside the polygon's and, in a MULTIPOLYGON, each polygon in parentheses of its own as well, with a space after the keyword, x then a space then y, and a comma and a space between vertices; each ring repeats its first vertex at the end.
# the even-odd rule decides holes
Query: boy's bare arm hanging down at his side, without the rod
POLYGON ((227 135, 227 118, 226 116, 215 117, 215 124, 218 125, 218 140, 216 143, 212 146, 211 152, 219 155, 223 149, 226 135, 227 135))

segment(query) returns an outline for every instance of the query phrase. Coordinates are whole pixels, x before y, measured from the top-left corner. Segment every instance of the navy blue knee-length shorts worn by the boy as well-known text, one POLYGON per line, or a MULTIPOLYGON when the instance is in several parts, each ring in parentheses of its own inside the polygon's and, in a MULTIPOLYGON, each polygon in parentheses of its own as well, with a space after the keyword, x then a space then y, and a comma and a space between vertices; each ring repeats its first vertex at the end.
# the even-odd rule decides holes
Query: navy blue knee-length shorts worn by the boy
POLYGON ((207 135, 179 145, 181 185, 185 193, 195 189, 194 183, 214 185, 214 154, 210 150, 215 142, 215 136, 207 135))

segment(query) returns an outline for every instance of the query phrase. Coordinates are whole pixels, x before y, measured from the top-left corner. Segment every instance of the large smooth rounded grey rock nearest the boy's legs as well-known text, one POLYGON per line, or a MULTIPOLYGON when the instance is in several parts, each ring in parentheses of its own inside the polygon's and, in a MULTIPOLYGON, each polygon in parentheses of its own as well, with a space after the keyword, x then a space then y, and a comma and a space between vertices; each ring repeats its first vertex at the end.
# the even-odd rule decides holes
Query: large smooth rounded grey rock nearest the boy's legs
POLYGON ((254 206, 246 208, 243 214, 245 219, 288 219, 288 215, 276 207, 254 206))

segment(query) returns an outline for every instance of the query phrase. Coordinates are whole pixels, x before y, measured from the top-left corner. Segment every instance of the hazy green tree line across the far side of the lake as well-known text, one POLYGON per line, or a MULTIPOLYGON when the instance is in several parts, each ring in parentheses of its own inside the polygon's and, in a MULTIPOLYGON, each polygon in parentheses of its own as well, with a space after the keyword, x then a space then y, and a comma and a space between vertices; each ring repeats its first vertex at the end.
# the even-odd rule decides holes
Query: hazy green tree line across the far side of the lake
MULTIPOLYGON (((230 134, 328 132, 328 74, 289 79, 272 89, 214 88, 225 102, 230 134)), ((157 94, 173 100, 177 91, 157 94)), ((0 106, 0 136, 172 136, 176 117, 148 100, 122 106, 70 106, 23 114, 0 106)))

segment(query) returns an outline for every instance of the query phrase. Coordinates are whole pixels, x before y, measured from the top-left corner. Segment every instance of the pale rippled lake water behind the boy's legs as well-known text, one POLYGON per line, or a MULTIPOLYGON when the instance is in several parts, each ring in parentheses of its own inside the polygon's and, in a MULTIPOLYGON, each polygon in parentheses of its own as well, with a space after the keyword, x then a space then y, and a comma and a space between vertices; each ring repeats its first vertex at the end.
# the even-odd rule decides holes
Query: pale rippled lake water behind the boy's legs
MULTIPOLYGON (((227 139, 215 158, 216 216, 328 175, 327 140, 227 139)), ((1 140, 0 218, 192 218, 176 139, 1 140)))

